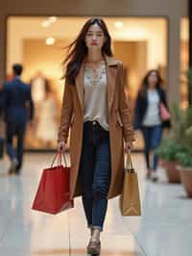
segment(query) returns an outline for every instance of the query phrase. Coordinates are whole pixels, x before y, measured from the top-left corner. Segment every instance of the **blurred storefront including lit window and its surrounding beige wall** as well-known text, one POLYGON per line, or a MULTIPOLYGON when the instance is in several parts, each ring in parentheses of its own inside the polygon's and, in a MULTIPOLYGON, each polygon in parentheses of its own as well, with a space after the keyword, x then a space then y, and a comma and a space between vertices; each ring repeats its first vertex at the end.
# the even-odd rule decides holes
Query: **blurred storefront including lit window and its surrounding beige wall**
MULTIPOLYGON (((63 47, 76 38, 88 16, 100 15, 107 22, 114 56, 125 65, 126 93, 132 108, 141 79, 150 68, 160 70, 170 104, 180 102, 181 107, 186 107, 186 0, 130 0, 121 1, 121 5, 117 1, 104 4, 73 0, 64 5, 60 1, 54 5, 42 1, 42 6, 35 2, 28 6, 21 0, 15 5, 7 3, 0 14, 0 82, 11 79, 12 63, 22 63, 23 80, 31 84, 35 98, 35 126, 28 130, 27 148, 56 147, 63 90, 63 47)), ((141 146, 139 139, 136 148, 141 146)))

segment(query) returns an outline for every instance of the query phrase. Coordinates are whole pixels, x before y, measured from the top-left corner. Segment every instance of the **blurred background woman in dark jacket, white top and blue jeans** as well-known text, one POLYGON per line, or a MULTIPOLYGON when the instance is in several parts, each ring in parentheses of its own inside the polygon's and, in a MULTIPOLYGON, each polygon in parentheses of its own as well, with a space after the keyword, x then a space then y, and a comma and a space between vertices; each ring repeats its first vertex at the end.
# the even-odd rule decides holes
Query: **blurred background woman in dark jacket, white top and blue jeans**
POLYGON ((162 128, 170 128, 170 119, 163 121, 160 116, 160 104, 168 111, 165 91, 162 89, 162 78, 158 70, 150 70, 144 77, 138 91, 135 111, 134 129, 141 130, 144 139, 144 152, 147 166, 146 178, 157 181, 156 173, 158 156, 156 147, 160 144, 162 128))

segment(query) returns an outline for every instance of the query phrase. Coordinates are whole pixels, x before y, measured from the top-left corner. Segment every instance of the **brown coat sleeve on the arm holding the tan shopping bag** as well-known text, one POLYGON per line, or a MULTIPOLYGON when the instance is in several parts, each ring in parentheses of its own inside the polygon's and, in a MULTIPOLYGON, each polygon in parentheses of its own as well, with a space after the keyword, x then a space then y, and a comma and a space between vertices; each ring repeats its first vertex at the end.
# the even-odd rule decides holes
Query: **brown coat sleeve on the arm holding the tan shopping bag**
POLYGON ((134 131, 132 128, 131 110, 129 103, 126 99, 124 90, 124 71, 123 64, 119 64, 119 111, 123 122, 123 136, 125 141, 135 141, 134 131))

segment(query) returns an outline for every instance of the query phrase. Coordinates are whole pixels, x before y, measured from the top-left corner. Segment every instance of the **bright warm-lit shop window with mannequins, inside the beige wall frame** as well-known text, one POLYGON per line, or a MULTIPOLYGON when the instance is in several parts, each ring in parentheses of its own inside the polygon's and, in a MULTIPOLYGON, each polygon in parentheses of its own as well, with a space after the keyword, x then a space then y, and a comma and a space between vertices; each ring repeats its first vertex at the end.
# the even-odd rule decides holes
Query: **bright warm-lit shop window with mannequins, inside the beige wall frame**
MULTIPOLYGON (((60 80, 63 47, 76 38, 86 19, 56 16, 8 18, 6 75, 11 77, 12 63, 24 64, 23 79, 31 84, 35 100, 35 126, 28 131, 27 147, 56 146, 63 84, 60 80), (63 32, 62 28, 69 29, 63 32)), ((166 80, 167 20, 123 17, 105 17, 105 20, 113 38, 114 56, 124 63, 126 92, 133 108, 140 81, 148 69, 159 68, 166 80)))

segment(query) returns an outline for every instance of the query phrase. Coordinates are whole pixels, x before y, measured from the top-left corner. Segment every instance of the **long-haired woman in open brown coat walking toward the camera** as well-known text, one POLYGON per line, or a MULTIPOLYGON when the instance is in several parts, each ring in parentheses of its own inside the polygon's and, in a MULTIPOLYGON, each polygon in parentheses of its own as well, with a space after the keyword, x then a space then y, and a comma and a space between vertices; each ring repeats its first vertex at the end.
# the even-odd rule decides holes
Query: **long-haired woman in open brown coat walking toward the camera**
POLYGON ((91 238, 88 254, 100 253, 100 232, 108 198, 122 191, 124 141, 134 141, 130 108, 123 85, 123 65, 112 58, 108 28, 101 18, 84 24, 69 45, 58 149, 70 133, 70 196, 83 195, 91 238))

